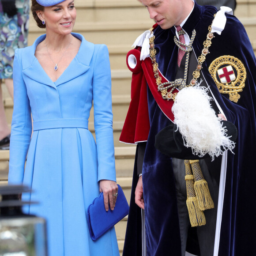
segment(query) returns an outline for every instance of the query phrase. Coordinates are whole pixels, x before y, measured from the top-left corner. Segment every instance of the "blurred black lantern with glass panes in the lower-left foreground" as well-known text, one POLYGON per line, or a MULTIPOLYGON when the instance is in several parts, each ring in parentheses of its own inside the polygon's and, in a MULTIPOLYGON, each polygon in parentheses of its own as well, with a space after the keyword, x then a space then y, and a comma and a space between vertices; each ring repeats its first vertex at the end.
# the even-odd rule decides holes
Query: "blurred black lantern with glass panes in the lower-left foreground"
POLYGON ((26 215, 21 194, 30 189, 0 186, 0 256, 47 256, 45 219, 26 215))

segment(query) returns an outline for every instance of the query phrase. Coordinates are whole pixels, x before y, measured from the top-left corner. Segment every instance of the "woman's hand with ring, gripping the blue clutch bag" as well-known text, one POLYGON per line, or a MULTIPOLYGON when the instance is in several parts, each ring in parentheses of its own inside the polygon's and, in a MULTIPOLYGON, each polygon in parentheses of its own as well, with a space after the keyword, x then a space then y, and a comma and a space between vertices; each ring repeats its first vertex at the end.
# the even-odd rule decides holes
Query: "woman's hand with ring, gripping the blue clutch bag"
POLYGON ((117 183, 115 181, 101 180, 100 192, 103 192, 105 210, 109 211, 109 206, 111 210, 114 210, 117 201, 117 196, 115 196, 118 192, 117 183))

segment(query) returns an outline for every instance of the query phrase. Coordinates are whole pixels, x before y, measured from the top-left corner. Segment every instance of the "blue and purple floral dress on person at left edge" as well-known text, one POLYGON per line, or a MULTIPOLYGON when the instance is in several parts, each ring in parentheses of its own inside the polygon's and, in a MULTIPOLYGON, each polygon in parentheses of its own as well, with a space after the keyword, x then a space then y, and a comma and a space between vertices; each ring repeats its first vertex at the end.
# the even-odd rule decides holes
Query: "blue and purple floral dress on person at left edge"
POLYGON ((0 1, 0 79, 12 78, 14 52, 27 46, 29 0, 16 0, 17 15, 8 17, 0 1))

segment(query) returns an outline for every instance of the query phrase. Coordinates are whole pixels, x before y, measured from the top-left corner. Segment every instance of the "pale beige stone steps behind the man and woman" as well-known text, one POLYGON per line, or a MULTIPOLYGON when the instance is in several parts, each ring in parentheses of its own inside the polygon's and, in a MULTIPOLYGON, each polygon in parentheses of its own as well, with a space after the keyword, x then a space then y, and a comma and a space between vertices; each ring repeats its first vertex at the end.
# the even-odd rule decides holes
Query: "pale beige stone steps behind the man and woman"
MULTIPOLYGON (((126 66, 126 53, 136 37, 149 29, 153 22, 147 9, 138 0, 75 0, 77 20, 74 32, 83 34, 87 41, 108 46, 112 73, 113 130, 117 183, 129 202, 136 147, 119 142, 119 136, 130 102, 131 72, 126 66)), ((244 24, 256 53, 256 0, 237 0, 235 15, 244 24)), ((31 16, 29 45, 45 33, 31 16)), ((4 104, 9 124, 13 102, 4 90, 4 104)), ((104 99, 103 99, 104 100, 104 99)), ((93 116, 89 129, 94 134, 93 116)), ((0 151, 0 184, 7 183, 9 151, 0 151)), ((117 223, 116 232, 120 255, 124 245, 127 217, 117 223)))

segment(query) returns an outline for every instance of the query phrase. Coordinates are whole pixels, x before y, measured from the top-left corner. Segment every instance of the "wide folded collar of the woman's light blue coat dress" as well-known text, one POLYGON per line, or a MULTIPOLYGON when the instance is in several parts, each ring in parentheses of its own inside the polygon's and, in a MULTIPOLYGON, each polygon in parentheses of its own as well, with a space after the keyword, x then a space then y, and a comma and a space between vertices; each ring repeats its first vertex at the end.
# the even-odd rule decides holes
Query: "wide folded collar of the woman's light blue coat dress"
POLYGON ((33 45, 24 49, 26 56, 29 57, 22 58, 23 74, 39 83, 56 88, 60 84, 66 83, 87 72, 90 68, 90 61, 94 53, 94 44, 86 41, 81 34, 72 33, 72 35, 81 40, 79 51, 69 64, 68 68, 65 69, 55 82, 49 78, 41 64, 38 62, 38 59, 34 56, 36 47, 41 41, 45 40, 46 34, 38 37, 33 45), (31 58, 31 56, 34 57, 31 58), (35 70, 38 70, 38 72, 35 72, 35 70))

